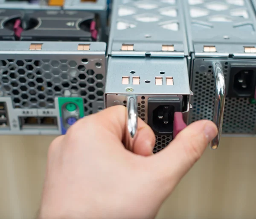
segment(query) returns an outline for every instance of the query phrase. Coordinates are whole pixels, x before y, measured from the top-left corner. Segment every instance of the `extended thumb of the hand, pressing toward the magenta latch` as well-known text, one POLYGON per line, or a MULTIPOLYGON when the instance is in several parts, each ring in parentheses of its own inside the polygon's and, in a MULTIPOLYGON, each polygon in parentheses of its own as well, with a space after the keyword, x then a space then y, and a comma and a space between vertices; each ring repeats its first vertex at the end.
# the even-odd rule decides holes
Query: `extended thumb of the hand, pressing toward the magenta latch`
POLYGON ((182 130, 169 146, 151 157, 159 177, 171 179, 175 186, 201 157, 217 133, 215 124, 207 120, 197 121, 182 130))

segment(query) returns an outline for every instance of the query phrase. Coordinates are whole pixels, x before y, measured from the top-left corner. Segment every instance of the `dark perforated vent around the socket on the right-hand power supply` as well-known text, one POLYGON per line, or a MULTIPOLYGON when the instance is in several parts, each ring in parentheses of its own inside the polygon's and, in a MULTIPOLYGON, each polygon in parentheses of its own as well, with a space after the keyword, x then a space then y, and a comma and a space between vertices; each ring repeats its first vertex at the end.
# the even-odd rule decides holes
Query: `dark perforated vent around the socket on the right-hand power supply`
MULTIPOLYGON (((230 62, 222 64, 227 83, 230 62)), ((195 60, 192 91, 190 122, 212 120, 215 81, 211 61, 195 60)), ((226 98, 222 133, 256 134, 256 104, 250 104, 249 98, 226 98)))

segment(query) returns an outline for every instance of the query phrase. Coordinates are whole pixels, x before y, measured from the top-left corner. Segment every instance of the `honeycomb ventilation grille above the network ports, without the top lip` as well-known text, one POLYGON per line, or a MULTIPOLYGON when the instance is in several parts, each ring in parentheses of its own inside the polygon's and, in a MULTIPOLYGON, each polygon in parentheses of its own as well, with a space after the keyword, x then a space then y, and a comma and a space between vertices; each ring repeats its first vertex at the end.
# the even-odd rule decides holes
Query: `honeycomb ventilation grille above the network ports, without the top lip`
POLYGON ((95 101, 103 101, 104 58, 30 55, 3 59, 1 56, 0 95, 11 96, 15 108, 54 108, 56 96, 73 96, 84 99, 84 113, 88 115, 93 113, 95 101))

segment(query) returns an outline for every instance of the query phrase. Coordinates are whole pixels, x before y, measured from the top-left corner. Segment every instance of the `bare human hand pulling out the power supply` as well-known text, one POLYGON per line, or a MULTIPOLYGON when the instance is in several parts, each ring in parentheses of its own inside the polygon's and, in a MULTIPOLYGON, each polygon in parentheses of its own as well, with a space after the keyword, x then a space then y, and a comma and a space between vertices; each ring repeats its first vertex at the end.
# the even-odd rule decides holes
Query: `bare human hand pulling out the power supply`
POLYGON ((140 119, 127 146, 126 114, 105 109, 52 142, 40 219, 152 219, 217 135, 211 121, 197 121, 152 155, 155 136, 140 119))

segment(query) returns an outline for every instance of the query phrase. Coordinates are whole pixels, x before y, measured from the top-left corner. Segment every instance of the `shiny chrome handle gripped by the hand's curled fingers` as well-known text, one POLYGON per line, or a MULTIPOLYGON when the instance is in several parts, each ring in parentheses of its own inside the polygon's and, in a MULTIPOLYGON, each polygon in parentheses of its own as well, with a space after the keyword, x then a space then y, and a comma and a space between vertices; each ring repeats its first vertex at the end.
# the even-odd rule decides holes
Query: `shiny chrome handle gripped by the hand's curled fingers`
POLYGON ((131 138, 134 138, 138 126, 138 111, 137 111, 137 98, 129 96, 127 98, 128 109, 128 131, 131 138))

